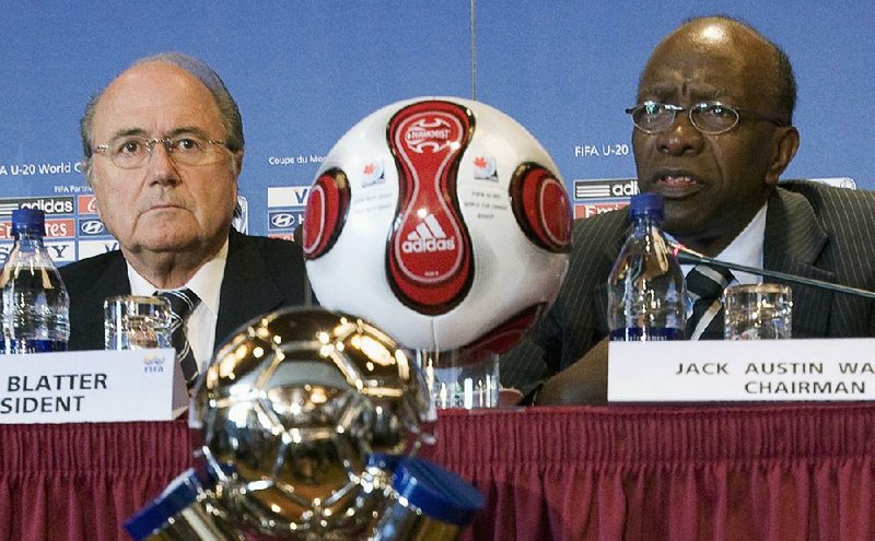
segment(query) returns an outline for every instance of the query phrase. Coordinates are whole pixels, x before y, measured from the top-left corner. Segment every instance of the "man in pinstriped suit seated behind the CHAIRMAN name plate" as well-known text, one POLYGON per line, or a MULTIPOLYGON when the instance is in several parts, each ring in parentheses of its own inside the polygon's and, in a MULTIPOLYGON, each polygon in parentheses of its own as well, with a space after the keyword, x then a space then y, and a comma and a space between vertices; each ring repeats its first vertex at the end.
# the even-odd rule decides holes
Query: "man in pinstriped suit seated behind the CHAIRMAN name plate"
MULTIPOLYGON (((697 251, 875 290, 875 195, 778 183, 800 144, 795 98, 790 60, 757 31, 727 17, 685 23, 651 55, 627 111, 639 186, 663 197, 665 230, 697 251)), ((627 211, 574 224, 568 280, 503 360, 505 386, 530 391, 548 378, 540 404, 605 401, 606 282, 628 225, 627 211)), ((875 336, 871 301, 796 285, 793 301, 794 337, 875 336)))

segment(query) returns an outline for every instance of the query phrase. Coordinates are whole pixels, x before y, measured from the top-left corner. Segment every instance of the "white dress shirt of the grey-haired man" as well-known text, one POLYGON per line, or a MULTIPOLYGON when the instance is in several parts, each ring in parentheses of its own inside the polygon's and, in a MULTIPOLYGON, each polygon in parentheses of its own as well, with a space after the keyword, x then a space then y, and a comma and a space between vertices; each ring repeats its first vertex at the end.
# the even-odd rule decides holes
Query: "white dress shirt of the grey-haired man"
MULTIPOLYGON (((186 337, 201 372, 212 358, 212 350, 215 346, 215 322, 219 320, 219 297, 222 292, 222 278, 225 274, 226 261, 228 240, 214 258, 203 263, 191 277, 191 280, 179 287, 180 290, 191 290, 200 298, 200 304, 186 322, 186 337)), ((128 280, 130 281, 130 292, 133 295, 150 296, 154 295, 156 291, 163 291, 149 283, 133 270, 130 263, 128 263, 128 280)))

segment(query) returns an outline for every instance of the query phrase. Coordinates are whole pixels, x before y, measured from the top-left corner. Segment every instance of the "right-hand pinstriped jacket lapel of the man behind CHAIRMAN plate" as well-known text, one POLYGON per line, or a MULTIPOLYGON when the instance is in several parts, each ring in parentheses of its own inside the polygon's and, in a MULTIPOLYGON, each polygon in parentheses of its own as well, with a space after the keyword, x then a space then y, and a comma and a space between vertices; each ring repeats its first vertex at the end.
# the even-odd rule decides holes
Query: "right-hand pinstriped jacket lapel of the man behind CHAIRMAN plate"
MULTIPOLYGON (((817 223, 808 200, 800 193, 775 189, 766 215, 763 267, 835 282, 835 272, 815 267, 827 242, 828 236, 817 223)), ((790 286, 793 293, 793 337, 826 336, 832 292, 800 284, 790 286)))

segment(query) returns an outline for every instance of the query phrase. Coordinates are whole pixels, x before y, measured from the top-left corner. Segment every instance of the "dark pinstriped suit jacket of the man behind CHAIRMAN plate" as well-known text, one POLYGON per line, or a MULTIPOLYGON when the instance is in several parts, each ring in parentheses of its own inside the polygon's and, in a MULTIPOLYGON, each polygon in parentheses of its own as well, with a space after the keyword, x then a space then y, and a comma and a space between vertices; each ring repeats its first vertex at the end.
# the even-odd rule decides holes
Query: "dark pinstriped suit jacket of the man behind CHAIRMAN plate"
MULTIPOLYGON (((628 210, 575 221, 559 298, 528 338, 502 358, 504 386, 527 392, 608 334, 607 278, 628 227, 628 210)), ((875 193, 781 183, 769 200, 763 267, 875 291, 875 193)), ((794 338, 875 336, 875 302, 791 287, 794 338)))

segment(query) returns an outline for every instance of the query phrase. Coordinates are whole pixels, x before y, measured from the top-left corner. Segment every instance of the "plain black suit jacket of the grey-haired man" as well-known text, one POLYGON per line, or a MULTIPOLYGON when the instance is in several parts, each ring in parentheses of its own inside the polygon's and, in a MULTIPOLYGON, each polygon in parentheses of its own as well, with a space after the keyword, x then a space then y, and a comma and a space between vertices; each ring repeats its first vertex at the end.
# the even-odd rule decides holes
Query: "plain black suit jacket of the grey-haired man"
MULTIPOLYGON (((60 269, 70 295, 70 350, 103 350, 103 302, 130 294, 120 251, 60 269)), ((306 273, 295 243, 231 232, 219 298, 215 349, 242 325, 283 306, 304 304, 306 273)))

